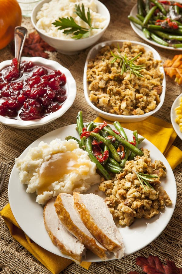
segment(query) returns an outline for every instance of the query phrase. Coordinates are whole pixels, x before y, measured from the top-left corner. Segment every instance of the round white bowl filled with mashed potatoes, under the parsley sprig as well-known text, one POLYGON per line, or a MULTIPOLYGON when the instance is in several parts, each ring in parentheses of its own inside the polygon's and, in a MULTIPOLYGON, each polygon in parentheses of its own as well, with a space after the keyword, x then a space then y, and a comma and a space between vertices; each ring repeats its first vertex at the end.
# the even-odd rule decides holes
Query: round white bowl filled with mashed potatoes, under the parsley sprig
POLYGON ((110 13, 98 0, 43 0, 33 9, 31 20, 40 37, 56 51, 63 54, 76 54, 100 39, 110 23, 110 13), (85 14, 89 8, 92 26, 97 29, 91 30, 87 38, 73 39, 72 34, 66 35, 52 23, 59 18, 72 17, 78 25, 88 28, 88 25, 75 14, 75 5, 79 4, 81 8, 82 3, 85 14))

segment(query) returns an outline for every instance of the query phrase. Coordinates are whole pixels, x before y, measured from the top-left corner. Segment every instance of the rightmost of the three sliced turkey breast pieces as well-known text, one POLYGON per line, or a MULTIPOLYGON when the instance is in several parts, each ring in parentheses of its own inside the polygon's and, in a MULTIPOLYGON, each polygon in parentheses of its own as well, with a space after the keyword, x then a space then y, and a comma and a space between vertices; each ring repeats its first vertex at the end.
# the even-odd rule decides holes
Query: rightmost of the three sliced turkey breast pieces
POLYGON ((122 258, 124 255, 123 239, 104 200, 93 193, 74 192, 73 197, 74 206, 93 236, 105 248, 114 252, 115 258, 122 258))

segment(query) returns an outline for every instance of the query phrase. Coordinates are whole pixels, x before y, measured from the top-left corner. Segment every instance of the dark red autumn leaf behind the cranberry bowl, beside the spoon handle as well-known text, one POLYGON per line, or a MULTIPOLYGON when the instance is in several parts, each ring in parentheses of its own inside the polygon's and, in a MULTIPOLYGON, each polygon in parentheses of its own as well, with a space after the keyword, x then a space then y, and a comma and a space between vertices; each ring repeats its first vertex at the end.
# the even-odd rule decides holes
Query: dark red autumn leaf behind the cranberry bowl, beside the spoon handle
MULTIPOLYGON (((12 50, 14 51, 14 45, 12 45, 12 50)), ((39 34, 34 31, 29 34, 29 37, 26 38, 25 44, 22 51, 22 56, 39 56, 43 58, 49 58, 48 53, 45 51, 56 51, 55 48, 49 46, 39 34)))

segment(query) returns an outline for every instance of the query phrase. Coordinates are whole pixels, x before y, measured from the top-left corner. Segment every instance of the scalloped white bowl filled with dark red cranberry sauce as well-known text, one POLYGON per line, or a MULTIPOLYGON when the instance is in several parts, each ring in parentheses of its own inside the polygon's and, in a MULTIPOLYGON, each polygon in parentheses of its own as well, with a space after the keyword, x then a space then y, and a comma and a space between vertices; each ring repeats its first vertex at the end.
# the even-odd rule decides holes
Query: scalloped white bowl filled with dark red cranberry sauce
POLYGON ((0 63, 0 122, 38 128, 62 116, 76 97, 71 72, 56 61, 22 57, 0 63))

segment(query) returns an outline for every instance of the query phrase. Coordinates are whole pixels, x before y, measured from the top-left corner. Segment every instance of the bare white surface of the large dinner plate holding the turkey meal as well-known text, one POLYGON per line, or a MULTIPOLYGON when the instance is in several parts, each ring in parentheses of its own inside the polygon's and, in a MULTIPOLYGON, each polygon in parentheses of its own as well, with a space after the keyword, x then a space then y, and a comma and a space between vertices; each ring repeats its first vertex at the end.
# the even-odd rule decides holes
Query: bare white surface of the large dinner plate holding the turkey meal
MULTIPOLYGON (((110 126, 113 127, 113 125, 110 126)), ((45 134, 26 148, 20 157, 25 157, 29 148, 38 146, 41 141, 49 143, 56 138, 64 140, 68 135, 79 138, 75 127, 76 125, 69 125, 45 134)), ((128 139, 132 139, 133 132, 128 129, 125 129, 125 132, 128 139)), ((139 137, 141 136, 139 135, 139 137)), ((150 150, 152 161, 161 160, 166 166, 167 176, 162 179, 161 185, 169 194, 172 205, 165 207, 162 212, 149 220, 137 219, 130 227, 119 228, 120 233, 123 236, 125 256, 150 244, 164 230, 173 215, 176 203, 176 182, 169 163, 163 154, 147 139, 142 142, 142 146, 150 150)), ((98 185, 94 185, 87 193, 95 192, 95 190, 97 190, 97 195, 104 197, 103 192, 98 191, 98 185)), ((19 171, 15 166, 12 169, 9 179, 8 196, 12 213, 25 234, 42 248, 45 248, 56 255, 69 258, 63 255, 49 238, 44 227, 43 207, 35 202, 35 194, 26 193, 26 185, 20 183, 19 171)), ((114 259, 113 253, 109 259, 114 259)), ((98 262, 101 259, 92 252, 87 251, 84 260, 98 262)))

